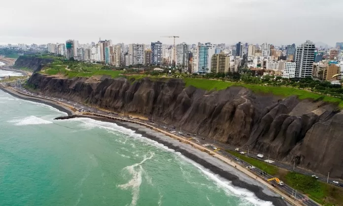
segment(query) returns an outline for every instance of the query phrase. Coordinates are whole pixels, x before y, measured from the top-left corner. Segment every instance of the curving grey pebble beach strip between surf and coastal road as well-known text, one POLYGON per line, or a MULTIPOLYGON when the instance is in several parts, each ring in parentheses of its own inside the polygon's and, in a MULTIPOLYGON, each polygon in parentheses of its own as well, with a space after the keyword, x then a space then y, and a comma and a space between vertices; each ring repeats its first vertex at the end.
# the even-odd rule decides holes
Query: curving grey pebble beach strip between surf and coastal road
MULTIPOLYGON (((1 89, 1 87, 0 87, 1 89)), ((59 103, 58 101, 50 101, 45 100, 41 98, 36 98, 33 96, 28 96, 25 94, 20 94, 12 89, 8 88, 2 88, 1 90, 10 93, 11 95, 29 100, 34 101, 38 103, 45 103, 48 105, 51 105, 61 111, 64 111, 68 113, 68 115, 75 114, 68 105, 64 103, 59 103)), ((120 122, 115 120, 109 120, 104 119, 98 115, 82 115, 79 114, 79 116, 83 116, 86 118, 92 118, 94 120, 99 121, 105 121, 105 122, 114 122, 118 125, 121 125, 125 128, 129 128, 131 130, 134 130, 137 134, 142 134, 144 137, 148 137, 154 141, 157 141, 159 143, 162 143, 165 146, 168 146, 168 148, 174 149, 175 151, 180 152, 185 157, 195 161, 196 163, 202 165, 206 169, 210 170, 211 172, 214 172, 221 177, 232 181, 232 184, 245 188, 251 192, 253 192, 259 199, 273 202, 273 205, 275 206, 281 206, 285 205, 286 202, 281 199, 281 195, 283 195, 281 192, 276 190, 274 187, 272 187, 270 184, 266 183, 264 180, 260 179, 259 177, 256 179, 256 175, 249 172, 246 168, 243 168, 240 166, 240 164, 237 164, 236 162, 232 162, 232 160, 229 160, 217 153, 210 152, 212 155, 207 154, 206 152, 203 152, 201 150, 208 150, 206 147, 202 147, 201 145, 194 144, 194 142, 191 142, 183 137, 177 137, 173 134, 170 134, 166 131, 159 131, 158 128, 150 127, 148 129, 141 123, 130 123, 130 122, 120 122)), ((63 120, 62 120, 63 121, 63 120)), ((283 195, 283 198, 291 201, 287 196, 283 195)), ((300 205, 299 203, 295 203, 295 205, 300 205)))

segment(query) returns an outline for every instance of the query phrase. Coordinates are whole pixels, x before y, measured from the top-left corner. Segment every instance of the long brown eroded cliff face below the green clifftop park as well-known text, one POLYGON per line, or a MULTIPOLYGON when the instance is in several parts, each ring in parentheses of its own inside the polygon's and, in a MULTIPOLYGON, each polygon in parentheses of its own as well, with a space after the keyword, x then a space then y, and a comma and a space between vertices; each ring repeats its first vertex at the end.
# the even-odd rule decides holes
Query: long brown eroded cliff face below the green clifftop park
POLYGON ((295 96, 282 99, 244 87, 185 88, 181 79, 65 79, 35 73, 28 83, 44 94, 129 112, 269 154, 343 178, 343 113, 335 105, 295 96))

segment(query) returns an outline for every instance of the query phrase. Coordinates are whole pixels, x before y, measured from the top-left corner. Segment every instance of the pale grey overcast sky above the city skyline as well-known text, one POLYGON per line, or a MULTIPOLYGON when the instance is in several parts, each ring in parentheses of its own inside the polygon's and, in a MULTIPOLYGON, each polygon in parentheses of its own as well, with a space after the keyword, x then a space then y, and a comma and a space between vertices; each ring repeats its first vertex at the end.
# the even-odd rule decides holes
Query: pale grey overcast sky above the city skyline
POLYGON ((343 0, 1 0, 0 44, 343 41, 343 0))

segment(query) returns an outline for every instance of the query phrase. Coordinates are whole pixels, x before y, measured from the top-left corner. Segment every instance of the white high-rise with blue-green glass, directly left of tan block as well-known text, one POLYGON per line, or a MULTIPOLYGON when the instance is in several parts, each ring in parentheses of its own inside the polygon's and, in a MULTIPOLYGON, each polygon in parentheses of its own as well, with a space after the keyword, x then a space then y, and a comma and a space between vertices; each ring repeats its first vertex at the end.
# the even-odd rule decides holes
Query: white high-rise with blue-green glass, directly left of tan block
POLYGON ((207 42, 205 45, 199 46, 199 66, 198 72, 210 73, 211 72, 211 58, 215 51, 215 45, 207 42))

